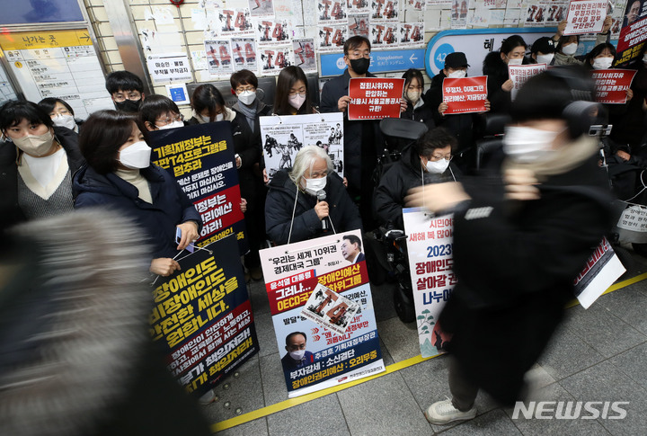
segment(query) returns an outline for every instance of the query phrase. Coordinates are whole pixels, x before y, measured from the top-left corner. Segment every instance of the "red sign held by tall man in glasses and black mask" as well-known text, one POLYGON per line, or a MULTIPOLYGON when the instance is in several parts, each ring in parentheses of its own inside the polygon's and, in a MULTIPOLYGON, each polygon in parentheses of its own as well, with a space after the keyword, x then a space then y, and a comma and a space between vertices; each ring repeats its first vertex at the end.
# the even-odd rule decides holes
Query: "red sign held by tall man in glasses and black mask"
POLYGON ((349 120, 400 118, 404 79, 351 78, 349 120))

